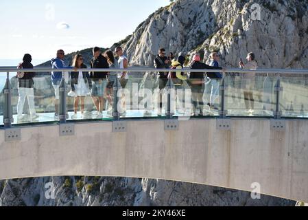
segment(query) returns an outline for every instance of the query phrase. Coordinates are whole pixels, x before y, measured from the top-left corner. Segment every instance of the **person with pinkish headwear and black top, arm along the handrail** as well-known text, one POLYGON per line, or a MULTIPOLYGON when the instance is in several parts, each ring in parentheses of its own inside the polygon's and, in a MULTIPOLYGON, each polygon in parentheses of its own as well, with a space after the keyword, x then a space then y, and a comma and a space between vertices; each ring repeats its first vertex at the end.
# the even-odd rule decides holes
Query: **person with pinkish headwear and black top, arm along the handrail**
MULTIPOLYGON (((211 67, 201 62, 201 58, 198 54, 193 56, 193 63, 191 69, 222 69, 221 67, 211 67)), ((204 92, 204 73, 191 72, 189 77, 189 83, 191 85, 191 96, 193 101, 193 113, 196 115, 197 106, 199 104, 200 113, 203 115, 203 92, 204 92)))

